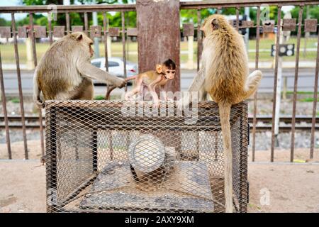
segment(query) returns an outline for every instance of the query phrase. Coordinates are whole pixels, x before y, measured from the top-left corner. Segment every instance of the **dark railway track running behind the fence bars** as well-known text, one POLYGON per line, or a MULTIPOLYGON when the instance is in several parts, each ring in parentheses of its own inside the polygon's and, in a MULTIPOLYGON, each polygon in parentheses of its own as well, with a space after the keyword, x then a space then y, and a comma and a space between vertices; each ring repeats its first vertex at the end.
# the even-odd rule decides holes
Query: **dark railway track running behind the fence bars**
MULTIPOLYGON (((26 128, 28 129, 37 129, 40 128, 38 116, 26 116, 26 128)), ((257 131, 270 131, 272 130, 272 116, 257 116, 257 123, 262 123, 263 125, 256 126, 257 131)), ((22 128, 21 116, 8 116, 9 128, 22 128)), ((250 123, 250 129, 252 129, 253 118, 249 117, 248 122, 250 123)), ((279 131, 291 131, 291 121, 290 116, 282 116, 279 118, 281 123, 286 125, 279 126, 279 131)), ((296 130, 308 131, 311 130, 312 117, 311 116, 296 116, 296 130)), ((315 123, 319 123, 319 117, 315 118, 315 123)), ((0 128, 4 128, 4 116, 0 116, 0 128)), ((43 120, 43 127, 45 123, 43 120)), ((315 126, 315 130, 319 130, 319 126, 315 126)))

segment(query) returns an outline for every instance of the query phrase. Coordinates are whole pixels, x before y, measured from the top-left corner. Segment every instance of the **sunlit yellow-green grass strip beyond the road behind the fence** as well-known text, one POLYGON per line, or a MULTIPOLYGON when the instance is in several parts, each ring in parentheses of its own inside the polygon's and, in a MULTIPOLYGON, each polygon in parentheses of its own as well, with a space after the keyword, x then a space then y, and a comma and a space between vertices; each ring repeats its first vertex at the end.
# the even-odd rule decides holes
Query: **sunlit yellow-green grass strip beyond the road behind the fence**
MULTIPOLYGON (((289 40, 289 43, 295 43, 296 45, 296 38, 291 38, 289 40)), ((317 42, 316 38, 308 38, 307 40, 307 48, 316 48, 315 43, 317 42)), ((316 57, 316 51, 307 51, 306 55, 303 55, 303 43, 304 38, 301 38, 301 53, 300 53, 300 59, 301 60, 315 60, 316 57)), ((259 42, 259 61, 269 61, 274 60, 274 57, 270 56, 270 52, 263 52, 264 50, 270 50, 272 44, 274 44, 274 39, 261 39, 259 42)), ((37 57, 38 60, 40 60, 40 57, 43 56, 45 53, 45 50, 49 47, 48 43, 37 43, 36 45, 36 51, 37 51, 37 57)), ((181 42, 180 45, 181 51, 181 62, 187 62, 188 55, 187 53, 184 53, 188 49, 188 43, 187 42, 181 42)), ((256 40, 250 40, 249 41, 249 48, 250 50, 254 50, 256 48, 256 40)), ((1 44, 1 55, 2 55, 2 62, 4 64, 14 64, 16 61, 15 55, 14 55, 14 46, 12 43, 10 44, 1 44)), ((138 43, 137 42, 128 42, 126 45, 126 50, 128 51, 127 57, 128 61, 130 62, 138 62, 138 43)), ((104 57, 104 45, 103 43, 100 43, 99 45, 99 51, 100 56, 104 57)), ((122 57, 123 56, 123 45, 121 42, 113 42, 111 44, 111 52, 113 57, 122 57)), ((26 64, 27 61, 27 50, 26 45, 24 43, 18 43, 18 53, 19 53, 19 60, 21 64, 26 64)), ((254 60, 256 57, 255 52, 249 52, 248 57, 250 60, 254 60)), ((284 60, 295 60, 296 56, 291 57, 283 57, 284 60)), ((194 57, 193 60, 196 62, 197 59, 197 42, 194 42, 194 57)))

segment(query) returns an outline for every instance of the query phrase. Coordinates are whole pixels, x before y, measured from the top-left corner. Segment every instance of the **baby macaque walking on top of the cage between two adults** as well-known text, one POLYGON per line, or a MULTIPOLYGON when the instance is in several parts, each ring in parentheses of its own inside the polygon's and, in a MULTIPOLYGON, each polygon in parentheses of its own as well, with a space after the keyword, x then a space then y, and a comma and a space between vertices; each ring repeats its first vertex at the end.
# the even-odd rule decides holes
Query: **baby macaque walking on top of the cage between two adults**
MULTIPOLYGON (((168 59, 162 63, 162 65, 156 65, 156 70, 151 70, 147 72, 142 72, 133 77, 128 77, 125 79, 126 82, 135 79, 135 84, 130 92, 126 92, 125 100, 132 99, 135 94, 140 94, 142 92, 142 87, 147 86, 147 89, 152 94, 154 101, 154 106, 159 106, 159 98, 155 92, 157 86, 160 87, 160 91, 163 92, 164 99, 168 100, 165 92, 164 85, 167 84, 169 79, 174 79, 176 73, 176 64, 174 61, 168 59)), ((106 94, 106 99, 108 99, 109 94, 115 87, 108 90, 106 94)))

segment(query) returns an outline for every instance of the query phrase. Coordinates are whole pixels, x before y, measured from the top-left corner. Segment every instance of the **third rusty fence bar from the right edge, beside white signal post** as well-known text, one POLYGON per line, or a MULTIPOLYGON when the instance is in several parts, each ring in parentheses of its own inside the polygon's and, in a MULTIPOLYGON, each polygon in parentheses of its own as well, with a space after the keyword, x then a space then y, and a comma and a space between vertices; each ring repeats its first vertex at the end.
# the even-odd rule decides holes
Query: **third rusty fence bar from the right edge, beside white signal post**
MULTIPOLYGON (((276 118, 276 94, 277 94, 277 78, 278 78, 278 60, 279 60, 279 38, 280 38, 280 23, 281 23, 281 6, 278 6, 277 15, 277 35, 276 35, 276 57, 275 57, 275 68, 274 68, 274 98, 272 105, 272 118, 276 118)), ((272 121, 272 148, 270 161, 274 162, 274 142, 275 142, 275 121, 272 121)))

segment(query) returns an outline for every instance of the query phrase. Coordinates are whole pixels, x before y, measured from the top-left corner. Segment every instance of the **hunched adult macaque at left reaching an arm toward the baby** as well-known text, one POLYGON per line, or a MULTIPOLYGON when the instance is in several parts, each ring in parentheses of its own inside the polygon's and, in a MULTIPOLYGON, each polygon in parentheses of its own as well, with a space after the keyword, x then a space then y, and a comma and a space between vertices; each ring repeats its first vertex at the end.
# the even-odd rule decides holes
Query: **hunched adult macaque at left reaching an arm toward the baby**
POLYGON ((93 99, 91 79, 116 87, 125 86, 124 79, 91 65, 93 41, 85 33, 65 35, 53 43, 35 68, 33 100, 40 108, 49 99, 93 99), (40 98, 43 94, 43 100, 40 98))

